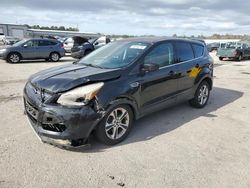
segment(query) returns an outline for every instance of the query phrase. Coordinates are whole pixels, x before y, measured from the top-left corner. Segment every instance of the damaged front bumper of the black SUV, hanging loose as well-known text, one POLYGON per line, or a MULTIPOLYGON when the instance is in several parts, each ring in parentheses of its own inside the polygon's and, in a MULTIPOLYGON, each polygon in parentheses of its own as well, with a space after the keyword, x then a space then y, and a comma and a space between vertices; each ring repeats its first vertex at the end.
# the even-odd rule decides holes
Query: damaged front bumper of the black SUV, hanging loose
POLYGON ((65 148, 88 145, 88 138, 102 118, 90 106, 65 107, 57 104, 44 104, 35 94, 24 89, 24 106, 27 118, 45 143, 65 148))

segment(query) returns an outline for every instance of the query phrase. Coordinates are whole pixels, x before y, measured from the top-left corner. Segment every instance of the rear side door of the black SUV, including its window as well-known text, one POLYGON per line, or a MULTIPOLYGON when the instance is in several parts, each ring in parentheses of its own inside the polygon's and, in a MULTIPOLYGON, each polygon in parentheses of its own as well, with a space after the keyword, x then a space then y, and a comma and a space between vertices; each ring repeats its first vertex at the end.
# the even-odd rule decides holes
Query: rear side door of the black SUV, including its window
POLYGON ((204 46, 178 41, 175 43, 175 52, 175 63, 178 65, 178 72, 181 74, 178 80, 179 98, 181 96, 186 98, 191 95, 195 79, 201 70, 204 46))

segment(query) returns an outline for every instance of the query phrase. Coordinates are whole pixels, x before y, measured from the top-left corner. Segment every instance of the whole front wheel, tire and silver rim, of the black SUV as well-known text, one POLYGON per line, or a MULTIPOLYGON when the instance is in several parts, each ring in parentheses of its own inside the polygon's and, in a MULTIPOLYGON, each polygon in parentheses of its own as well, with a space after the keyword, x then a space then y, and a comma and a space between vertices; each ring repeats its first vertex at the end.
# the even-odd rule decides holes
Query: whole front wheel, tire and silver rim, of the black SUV
POLYGON ((106 145, 118 144, 128 136, 133 122, 134 114, 128 105, 114 106, 99 123, 96 137, 106 145))

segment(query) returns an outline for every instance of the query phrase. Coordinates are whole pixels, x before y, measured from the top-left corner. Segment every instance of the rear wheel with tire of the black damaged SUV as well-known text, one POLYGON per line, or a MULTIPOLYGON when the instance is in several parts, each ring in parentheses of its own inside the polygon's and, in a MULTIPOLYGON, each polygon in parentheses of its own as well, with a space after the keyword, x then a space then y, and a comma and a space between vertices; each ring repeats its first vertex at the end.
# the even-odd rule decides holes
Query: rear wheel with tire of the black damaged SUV
POLYGON ((202 81, 195 92, 194 98, 189 103, 195 108, 203 108, 208 102, 209 95, 210 85, 207 81, 202 81))

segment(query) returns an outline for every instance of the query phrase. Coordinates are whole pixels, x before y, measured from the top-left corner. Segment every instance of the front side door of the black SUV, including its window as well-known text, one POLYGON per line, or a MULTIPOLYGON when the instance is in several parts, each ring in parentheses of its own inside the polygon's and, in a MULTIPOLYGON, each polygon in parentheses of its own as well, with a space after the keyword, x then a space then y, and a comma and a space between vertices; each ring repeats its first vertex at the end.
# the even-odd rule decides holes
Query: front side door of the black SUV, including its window
POLYGON ((174 63, 174 47, 164 42, 154 47, 144 58, 144 64, 158 64, 159 70, 147 72, 141 77, 141 101, 143 112, 155 109, 159 103, 166 106, 175 102, 178 73, 174 63))

